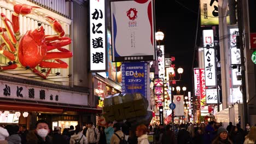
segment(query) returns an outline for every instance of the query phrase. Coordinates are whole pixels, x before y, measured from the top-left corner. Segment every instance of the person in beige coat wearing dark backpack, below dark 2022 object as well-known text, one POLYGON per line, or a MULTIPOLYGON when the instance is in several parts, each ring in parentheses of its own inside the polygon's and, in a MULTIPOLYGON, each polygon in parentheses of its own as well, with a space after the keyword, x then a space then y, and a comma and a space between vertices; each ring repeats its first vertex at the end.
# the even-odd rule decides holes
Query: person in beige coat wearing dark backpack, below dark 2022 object
POLYGON ((115 123, 113 128, 115 133, 111 137, 110 144, 127 144, 125 134, 121 131, 121 124, 115 123))

